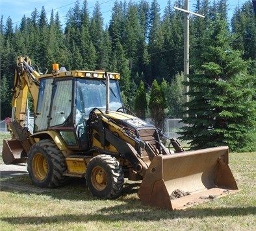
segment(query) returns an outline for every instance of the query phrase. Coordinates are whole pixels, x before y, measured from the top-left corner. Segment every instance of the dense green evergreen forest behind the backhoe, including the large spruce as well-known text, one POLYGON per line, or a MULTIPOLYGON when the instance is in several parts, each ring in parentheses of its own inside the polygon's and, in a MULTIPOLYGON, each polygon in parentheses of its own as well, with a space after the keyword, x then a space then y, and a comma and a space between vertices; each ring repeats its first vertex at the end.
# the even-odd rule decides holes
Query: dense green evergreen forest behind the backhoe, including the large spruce
POLYGON ((255 151, 256 17, 250 1, 227 17, 227 0, 198 0, 190 16, 190 74, 184 82, 184 0, 114 1, 105 25, 101 6, 92 14, 88 0, 76 1, 63 25, 44 6, 0 20, 1 120, 11 115, 14 70, 19 55, 34 67, 53 63, 67 70, 120 72, 126 105, 162 127, 165 118, 182 118, 181 140, 191 148, 228 145, 255 151), (184 92, 189 87, 188 93, 184 92), (189 101, 184 101, 185 94, 189 101))

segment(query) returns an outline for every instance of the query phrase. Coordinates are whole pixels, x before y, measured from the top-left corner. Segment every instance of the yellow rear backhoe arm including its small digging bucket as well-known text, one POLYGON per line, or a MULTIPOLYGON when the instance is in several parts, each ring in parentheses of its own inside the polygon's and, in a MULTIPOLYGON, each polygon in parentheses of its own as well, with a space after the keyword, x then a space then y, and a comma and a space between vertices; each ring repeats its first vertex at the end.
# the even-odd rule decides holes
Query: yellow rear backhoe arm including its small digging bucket
POLYGON ((31 60, 19 56, 14 73, 14 87, 12 89, 12 120, 6 120, 12 139, 3 140, 3 160, 5 164, 19 164, 27 161, 27 152, 34 138, 25 127, 27 115, 27 100, 31 93, 34 114, 39 91, 38 72, 31 66, 31 60))

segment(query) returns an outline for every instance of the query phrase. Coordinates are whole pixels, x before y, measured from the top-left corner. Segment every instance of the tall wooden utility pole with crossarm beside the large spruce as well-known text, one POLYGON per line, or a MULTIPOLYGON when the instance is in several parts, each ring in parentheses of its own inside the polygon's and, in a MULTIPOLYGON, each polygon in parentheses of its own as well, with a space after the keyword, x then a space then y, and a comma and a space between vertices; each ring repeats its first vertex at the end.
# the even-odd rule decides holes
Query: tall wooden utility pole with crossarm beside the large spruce
MULTIPOLYGON (((189 3, 188 0, 185 0, 185 9, 178 8, 173 6, 175 10, 181 10, 185 14, 185 21, 184 21, 184 82, 188 82, 188 74, 189 74, 189 15, 194 14, 195 16, 198 17, 205 17, 201 14, 197 14, 195 12, 189 11, 189 3)), ((188 91, 189 87, 184 85, 184 102, 187 103, 189 98, 188 98, 188 91)), ((186 111, 188 110, 188 107, 186 107, 186 111)), ((188 116, 186 114, 185 116, 188 116)))

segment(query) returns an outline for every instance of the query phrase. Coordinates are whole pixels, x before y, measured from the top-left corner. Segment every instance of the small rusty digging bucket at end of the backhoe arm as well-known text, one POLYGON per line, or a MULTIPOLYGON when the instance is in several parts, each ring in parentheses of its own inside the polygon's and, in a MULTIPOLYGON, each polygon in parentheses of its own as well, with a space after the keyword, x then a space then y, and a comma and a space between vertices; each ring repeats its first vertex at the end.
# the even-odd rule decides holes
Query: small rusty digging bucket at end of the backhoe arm
POLYGON ((20 164, 27 161, 27 153, 18 140, 3 140, 2 157, 5 164, 20 164))

